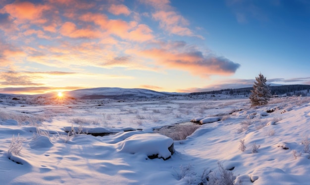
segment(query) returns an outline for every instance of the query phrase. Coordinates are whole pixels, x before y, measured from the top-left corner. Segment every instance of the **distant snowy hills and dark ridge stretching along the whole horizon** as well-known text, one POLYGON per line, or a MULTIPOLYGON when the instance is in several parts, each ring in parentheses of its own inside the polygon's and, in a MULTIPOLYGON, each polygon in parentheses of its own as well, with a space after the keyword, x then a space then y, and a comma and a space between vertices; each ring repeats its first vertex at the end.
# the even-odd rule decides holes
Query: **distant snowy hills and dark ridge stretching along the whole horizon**
MULTIPOLYGON (((65 92, 69 97, 81 98, 81 99, 114 99, 114 100, 126 100, 126 99, 144 99, 144 98, 160 98, 165 96, 194 96, 205 94, 225 94, 225 95, 249 95, 253 87, 245 87, 238 89, 221 89, 205 92, 193 92, 193 93, 176 93, 176 92, 157 92, 150 89, 141 88, 119 88, 119 87, 99 87, 89 89, 78 89, 65 92)), ((302 95, 307 96, 310 92, 310 85, 279 85, 270 86, 272 95, 302 95)), ((53 93, 45 94, 53 95, 53 93)), ((17 95, 17 94, 0 94, 0 98, 13 97, 13 96, 32 96, 32 95, 17 95)), ((42 95, 37 95, 42 96, 42 95)))

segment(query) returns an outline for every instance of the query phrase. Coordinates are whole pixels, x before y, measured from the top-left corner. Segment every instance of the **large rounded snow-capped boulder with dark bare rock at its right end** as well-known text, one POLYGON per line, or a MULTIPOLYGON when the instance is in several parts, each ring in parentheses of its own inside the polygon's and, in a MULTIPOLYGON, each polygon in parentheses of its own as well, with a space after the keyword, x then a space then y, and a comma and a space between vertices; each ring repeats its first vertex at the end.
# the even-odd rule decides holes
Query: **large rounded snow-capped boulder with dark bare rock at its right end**
POLYGON ((118 150, 130 154, 142 154, 150 159, 169 159, 174 153, 173 140, 157 134, 135 134, 118 143, 118 150))

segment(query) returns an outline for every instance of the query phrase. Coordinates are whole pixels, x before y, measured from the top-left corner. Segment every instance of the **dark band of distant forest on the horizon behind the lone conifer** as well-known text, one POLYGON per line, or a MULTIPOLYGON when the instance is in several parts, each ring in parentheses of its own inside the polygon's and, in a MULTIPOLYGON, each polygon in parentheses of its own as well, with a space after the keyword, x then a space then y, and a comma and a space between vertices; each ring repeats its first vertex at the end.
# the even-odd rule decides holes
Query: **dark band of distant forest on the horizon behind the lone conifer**
MULTIPOLYGON (((310 85, 280 85, 269 86, 273 96, 307 96, 310 90, 310 85)), ((253 87, 239 88, 239 89, 222 89, 217 91, 194 92, 190 95, 202 94, 227 94, 227 95, 250 95, 253 87)))

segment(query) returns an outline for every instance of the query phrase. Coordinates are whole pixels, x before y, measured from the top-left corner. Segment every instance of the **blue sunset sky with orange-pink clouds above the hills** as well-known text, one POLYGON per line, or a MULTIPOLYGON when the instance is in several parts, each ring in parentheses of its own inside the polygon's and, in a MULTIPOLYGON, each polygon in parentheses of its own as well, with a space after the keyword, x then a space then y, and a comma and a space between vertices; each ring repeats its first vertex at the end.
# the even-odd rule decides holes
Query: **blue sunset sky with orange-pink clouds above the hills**
POLYGON ((310 85, 308 0, 0 0, 0 93, 310 85))

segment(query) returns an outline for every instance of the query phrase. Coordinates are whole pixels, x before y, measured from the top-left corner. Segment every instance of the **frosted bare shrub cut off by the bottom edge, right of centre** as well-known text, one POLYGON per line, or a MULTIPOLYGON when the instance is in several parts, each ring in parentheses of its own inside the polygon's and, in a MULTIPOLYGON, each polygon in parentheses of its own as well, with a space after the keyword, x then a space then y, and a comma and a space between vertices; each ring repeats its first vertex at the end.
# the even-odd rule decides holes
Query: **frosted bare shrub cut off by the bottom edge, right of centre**
POLYGON ((219 175, 216 172, 212 172, 209 174, 209 182, 210 185, 234 185, 234 181, 236 176, 232 171, 225 170, 221 163, 218 164, 219 175))

